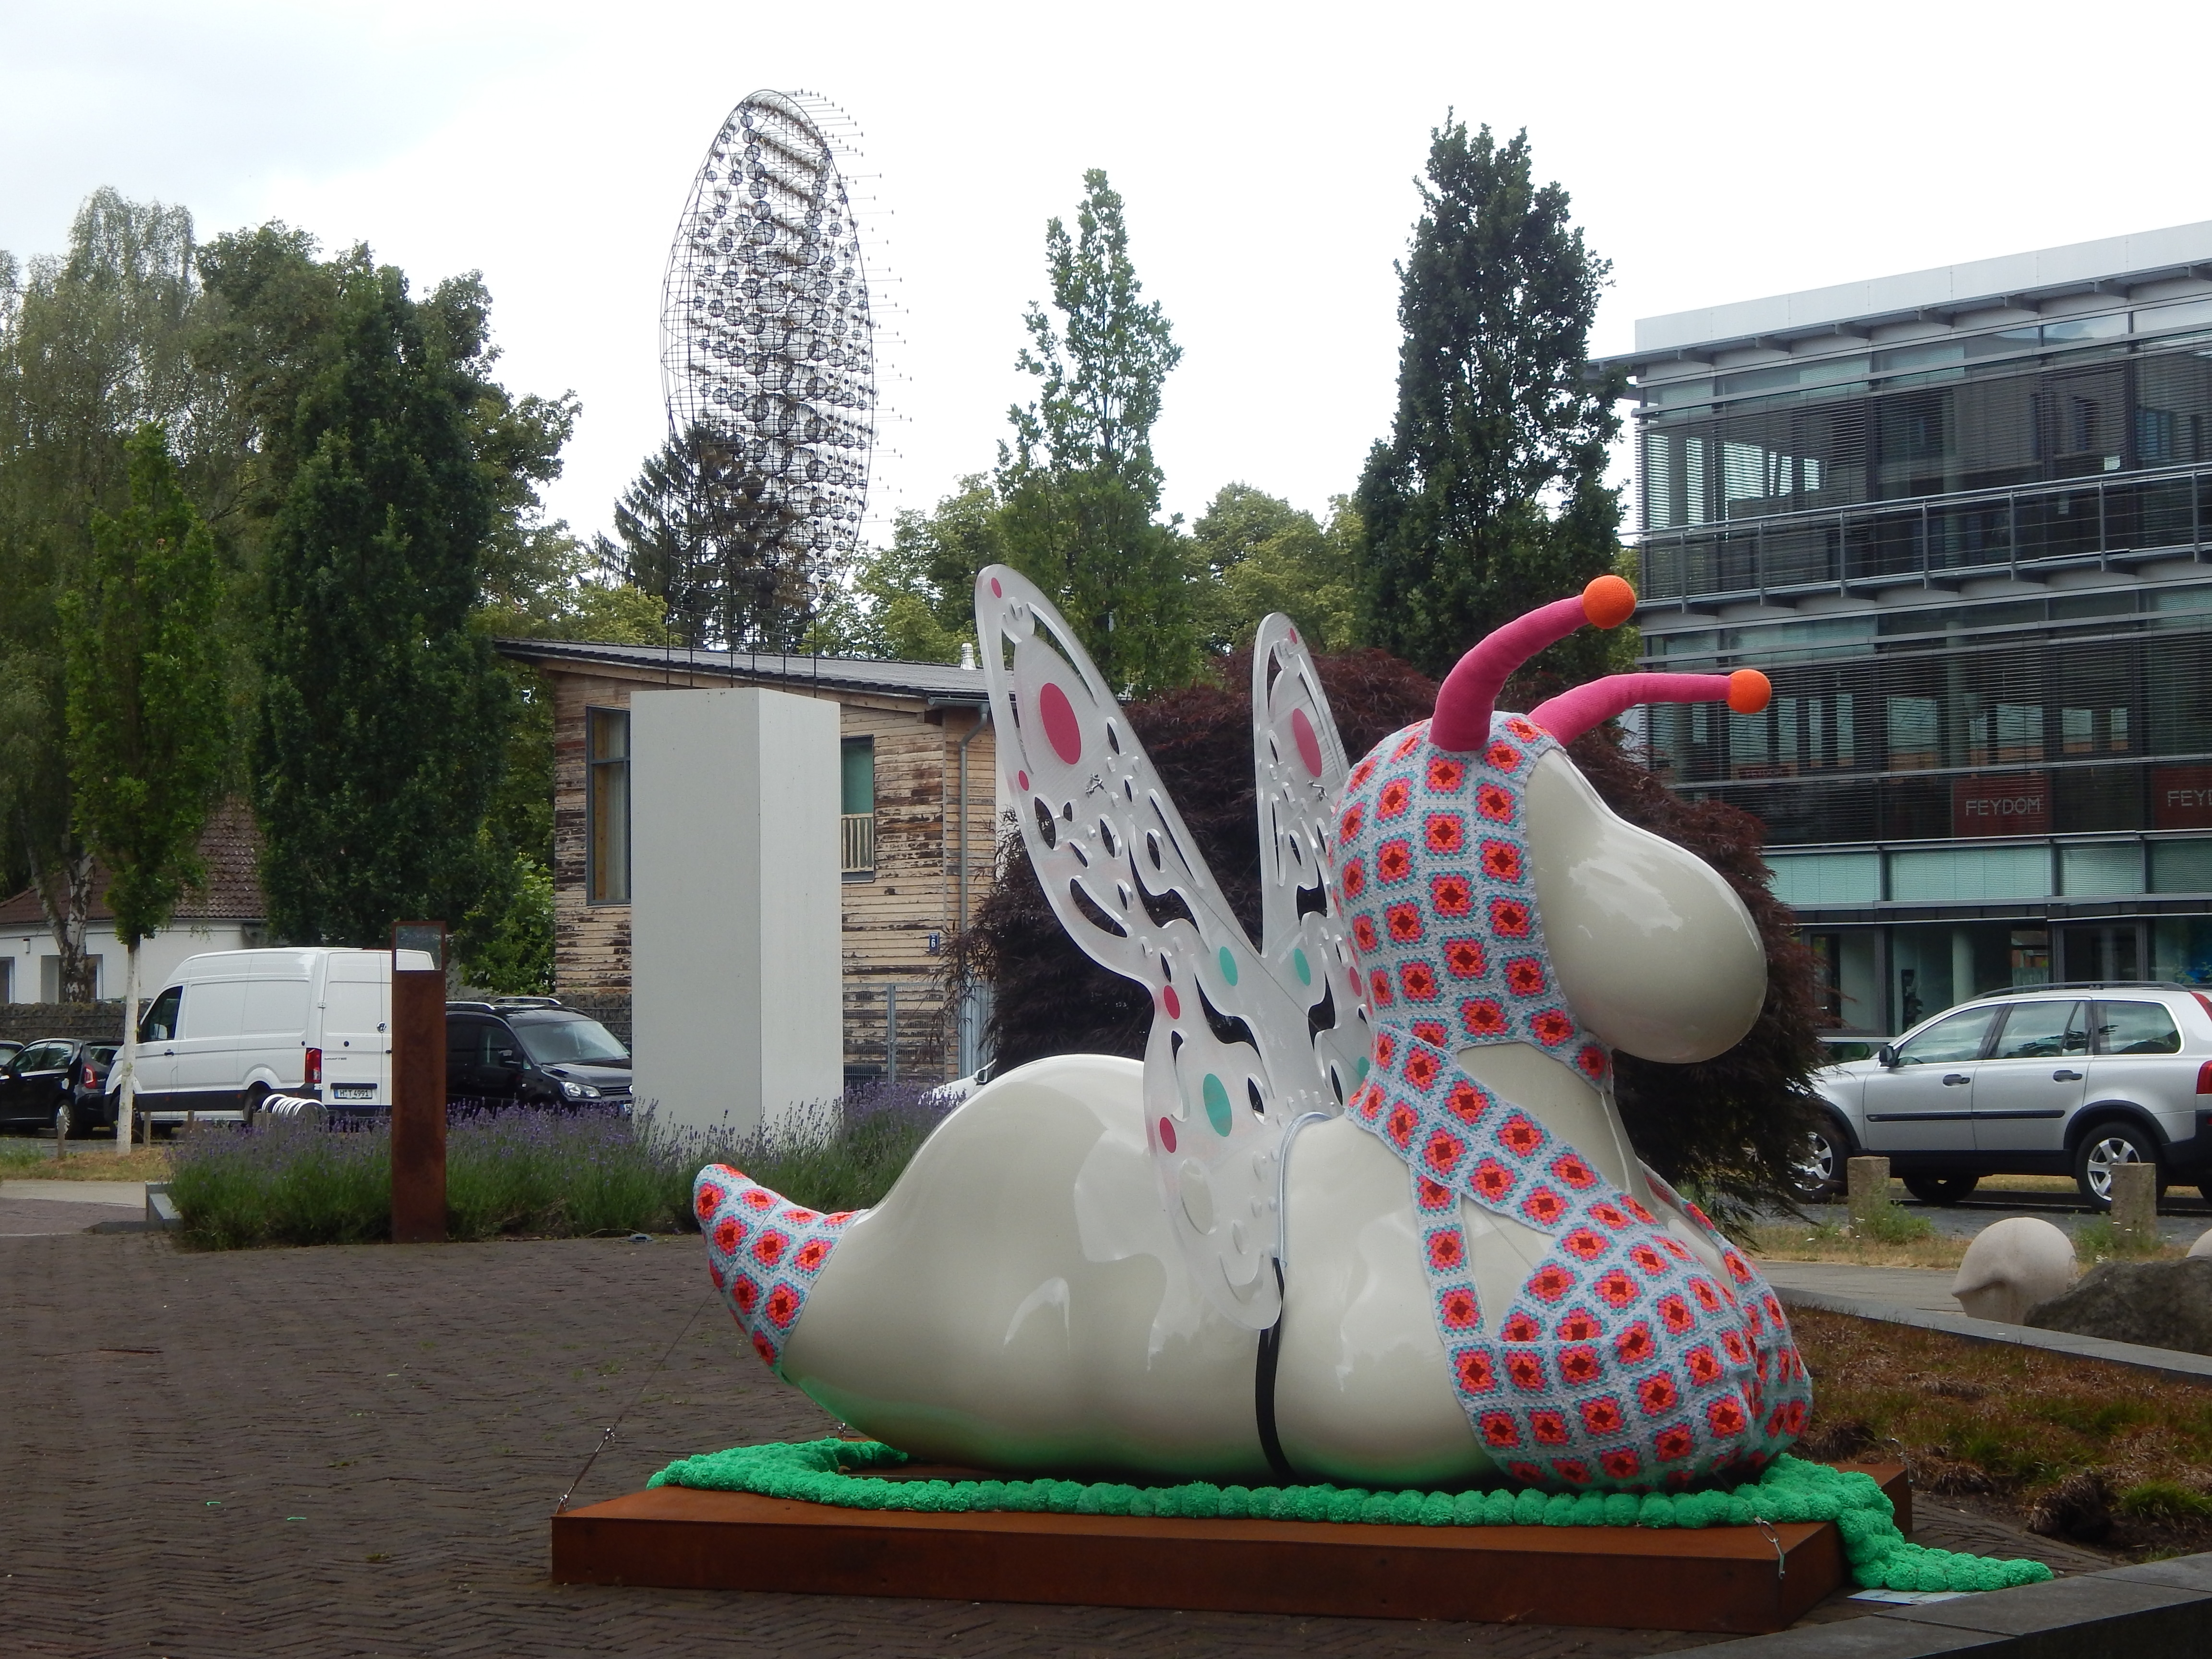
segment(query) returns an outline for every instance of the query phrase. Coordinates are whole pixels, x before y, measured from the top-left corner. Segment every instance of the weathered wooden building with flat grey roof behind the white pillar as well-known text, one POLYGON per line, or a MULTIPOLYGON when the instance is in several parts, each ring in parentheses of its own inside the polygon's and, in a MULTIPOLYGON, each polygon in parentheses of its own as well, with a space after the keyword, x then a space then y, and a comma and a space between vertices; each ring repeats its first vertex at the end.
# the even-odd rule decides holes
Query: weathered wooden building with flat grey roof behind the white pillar
POLYGON ((566 639, 502 639, 500 653, 538 668, 553 692, 560 995, 630 995, 630 692, 765 686, 838 703, 847 1077, 936 1082, 973 1068, 975 1020, 940 1018, 938 971, 945 938, 973 916, 998 865, 998 765, 980 668, 566 639))

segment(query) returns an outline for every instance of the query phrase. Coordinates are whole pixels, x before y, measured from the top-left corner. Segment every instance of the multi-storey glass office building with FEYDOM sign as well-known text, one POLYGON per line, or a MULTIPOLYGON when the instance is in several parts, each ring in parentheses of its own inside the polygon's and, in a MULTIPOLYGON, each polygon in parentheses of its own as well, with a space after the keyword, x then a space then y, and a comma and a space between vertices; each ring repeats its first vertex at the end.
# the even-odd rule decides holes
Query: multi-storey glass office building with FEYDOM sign
POLYGON ((1637 323, 1644 666, 1834 1024, 2212 984, 2212 223, 1637 323))

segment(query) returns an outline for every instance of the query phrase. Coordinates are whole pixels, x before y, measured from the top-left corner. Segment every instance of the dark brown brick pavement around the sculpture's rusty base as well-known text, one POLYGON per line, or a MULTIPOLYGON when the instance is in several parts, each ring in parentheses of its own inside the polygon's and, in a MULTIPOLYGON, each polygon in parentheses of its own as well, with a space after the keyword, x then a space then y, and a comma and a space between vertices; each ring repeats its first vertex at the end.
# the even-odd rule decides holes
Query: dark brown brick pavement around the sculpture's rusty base
MULTIPOLYGON (((1710 1641, 551 1586, 553 1502, 639 1387, 575 1502, 684 1453, 830 1431, 706 1301, 690 1239, 223 1254, 164 1234, 0 1239, 0 1650, 1626 1659, 1710 1641)), ((2104 1566, 1962 1520, 1982 1528, 1971 1544, 1920 1540, 2104 1566)))

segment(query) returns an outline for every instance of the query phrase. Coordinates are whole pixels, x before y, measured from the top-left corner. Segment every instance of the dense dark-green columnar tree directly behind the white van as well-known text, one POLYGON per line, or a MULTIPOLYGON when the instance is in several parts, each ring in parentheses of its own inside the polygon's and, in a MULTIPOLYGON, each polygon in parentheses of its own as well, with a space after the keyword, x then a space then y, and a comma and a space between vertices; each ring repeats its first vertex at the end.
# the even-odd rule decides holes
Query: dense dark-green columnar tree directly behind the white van
POLYGON ((254 807, 272 927, 380 945, 500 880, 480 830, 511 690, 471 628, 498 507, 482 288, 418 303, 354 250, 330 336, 281 438, 296 462, 265 553, 254 807))

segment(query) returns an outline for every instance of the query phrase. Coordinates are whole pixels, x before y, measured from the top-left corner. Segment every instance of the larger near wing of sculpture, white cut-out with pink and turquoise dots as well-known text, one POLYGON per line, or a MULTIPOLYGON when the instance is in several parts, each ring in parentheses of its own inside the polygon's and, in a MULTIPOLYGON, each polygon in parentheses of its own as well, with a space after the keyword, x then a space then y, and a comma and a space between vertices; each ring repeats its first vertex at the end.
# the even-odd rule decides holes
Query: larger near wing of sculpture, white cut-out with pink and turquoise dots
POLYGON ((1327 1093, 1305 1004, 1208 872, 1119 703, 1022 575, 975 577, 998 763, 1037 883, 1095 962, 1146 987, 1146 1139, 1206 1296, 1248 1329, 1281 1314, 1281 1141, 1327 1093))

